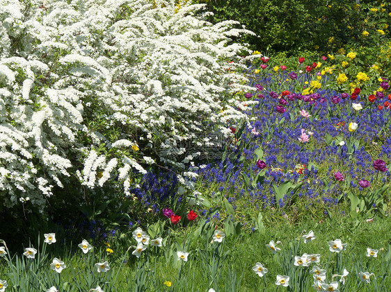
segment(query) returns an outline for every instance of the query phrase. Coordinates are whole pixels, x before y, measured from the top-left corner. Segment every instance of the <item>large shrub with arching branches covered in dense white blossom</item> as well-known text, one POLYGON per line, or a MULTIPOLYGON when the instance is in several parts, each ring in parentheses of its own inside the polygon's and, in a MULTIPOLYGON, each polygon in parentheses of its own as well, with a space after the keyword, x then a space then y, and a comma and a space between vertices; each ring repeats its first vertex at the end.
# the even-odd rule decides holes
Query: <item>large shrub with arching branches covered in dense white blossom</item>
POLYGON ((150 164, 191 161, 183 141, 228 135, 226 121, 245 117, 230 93, 246 89, 235 73, 246 47, 231 37, 249 32, 232 21, 212 25, 202 9, 163 0, 1 0, 3 206, 26 197, 43 206, 72 174, 80 187, 117 180, 126 194, 129 176, 150 164))

